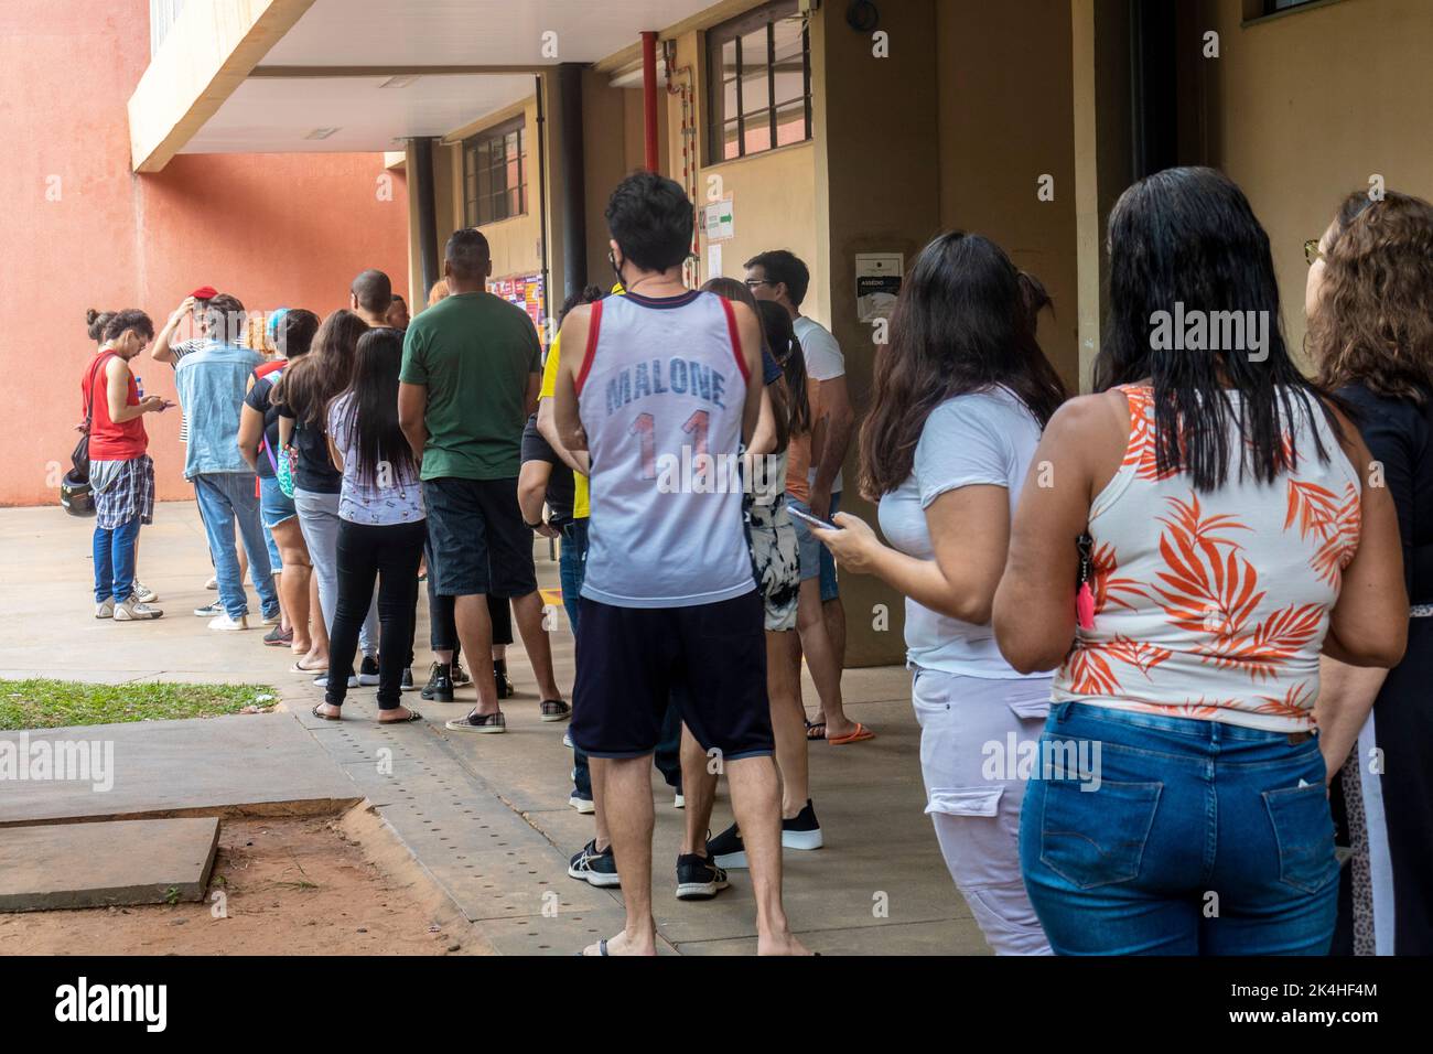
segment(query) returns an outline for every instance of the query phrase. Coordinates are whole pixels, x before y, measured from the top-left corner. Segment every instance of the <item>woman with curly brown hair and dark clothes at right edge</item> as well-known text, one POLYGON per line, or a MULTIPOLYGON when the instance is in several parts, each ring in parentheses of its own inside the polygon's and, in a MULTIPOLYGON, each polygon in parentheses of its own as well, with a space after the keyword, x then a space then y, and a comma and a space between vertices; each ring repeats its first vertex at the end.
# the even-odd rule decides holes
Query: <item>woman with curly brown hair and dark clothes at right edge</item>
POLYGON ((1328 655, 1318 727, 1341 845, 1336 954, 1433 954, 1433 205, 1350 194, 1308 255, 1308 351, 1354 407, 1399 513, 1409 647, 1391 670, 1328 655))

